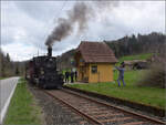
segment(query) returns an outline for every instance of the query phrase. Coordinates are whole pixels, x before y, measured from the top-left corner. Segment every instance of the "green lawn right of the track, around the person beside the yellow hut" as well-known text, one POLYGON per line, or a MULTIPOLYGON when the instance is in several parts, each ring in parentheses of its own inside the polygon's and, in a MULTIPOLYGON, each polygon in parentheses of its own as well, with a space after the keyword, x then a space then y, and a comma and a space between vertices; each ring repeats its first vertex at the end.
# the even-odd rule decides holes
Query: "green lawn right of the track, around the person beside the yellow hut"
MULTIPOLYGON (((116 82, 70 84, 69 86, 165 108, 165 88, 137 86, 136 83, 144 76, 146 72, 147 71, 145 70, 126 71, 124 76, 126 86, 121 87, 117 86, 116 82)), ((117 72, 114 73, 114 80, 117 80, 117 72)))

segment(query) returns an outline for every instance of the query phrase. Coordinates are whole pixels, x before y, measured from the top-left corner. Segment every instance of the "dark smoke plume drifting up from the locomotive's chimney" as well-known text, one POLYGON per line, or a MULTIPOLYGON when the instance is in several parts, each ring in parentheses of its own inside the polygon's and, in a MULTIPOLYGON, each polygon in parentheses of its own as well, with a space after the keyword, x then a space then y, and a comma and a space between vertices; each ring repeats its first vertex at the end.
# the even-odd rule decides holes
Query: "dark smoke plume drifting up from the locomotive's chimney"
POLYGON ((73 30, 75 23, 79 25, 79 32, 81 33, 86 27, 90 18, 95 17, 95 13, 100 13, 102 9, 112 9, 112 7, 116 7, 118 4, 117 1, 95 1, 94 6, 97 9, 91 8, 90 6, 85 4, 84 2, 76 2, 74 7, 68 11, 66 19, 59 19, 58 25, 53 29, 52 33, 48 37, 45 41, 45 45, 52 46, 54 42, 61 41, 62 39, 70 35, 73 30))

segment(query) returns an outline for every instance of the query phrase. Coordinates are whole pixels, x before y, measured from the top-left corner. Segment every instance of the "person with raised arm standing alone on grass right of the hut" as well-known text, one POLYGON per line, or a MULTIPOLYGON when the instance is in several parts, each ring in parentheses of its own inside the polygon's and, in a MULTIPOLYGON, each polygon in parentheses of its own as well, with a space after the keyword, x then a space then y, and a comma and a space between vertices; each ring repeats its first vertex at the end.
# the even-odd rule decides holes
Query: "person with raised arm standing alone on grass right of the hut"
POLYGON ((115 66, 116 70, 118 70, 118 79, 117 79, 117 83, 118 83, 118 86, 121 86, 121 81, 123 82, 123 85, 125 86, 125 82, 124 82, 124 71, 125 71, 125 64, 124 62, 121 63, 121 66, 115 66))

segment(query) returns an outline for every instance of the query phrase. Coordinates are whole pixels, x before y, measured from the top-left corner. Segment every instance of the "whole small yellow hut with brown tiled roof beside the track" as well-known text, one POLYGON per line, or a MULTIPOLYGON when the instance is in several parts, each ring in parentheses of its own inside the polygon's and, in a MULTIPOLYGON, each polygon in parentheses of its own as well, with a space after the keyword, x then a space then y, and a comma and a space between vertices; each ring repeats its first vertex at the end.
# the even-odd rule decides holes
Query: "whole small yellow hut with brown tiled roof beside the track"
POLYGON ((117 59, 105 42, 82 41, 74 58, 79 82, 113 81, 113 66, 117 59))

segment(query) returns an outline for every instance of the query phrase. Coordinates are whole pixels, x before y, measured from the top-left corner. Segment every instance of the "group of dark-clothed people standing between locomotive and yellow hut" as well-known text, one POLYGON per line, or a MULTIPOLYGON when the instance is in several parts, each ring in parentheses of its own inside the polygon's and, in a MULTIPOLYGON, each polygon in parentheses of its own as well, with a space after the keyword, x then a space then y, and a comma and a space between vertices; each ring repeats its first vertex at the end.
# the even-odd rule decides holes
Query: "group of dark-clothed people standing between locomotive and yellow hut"
POLYGON ((77 80, 77 72, 76 71, 75 72, 73 72, 73 71, 71 71, 71 72, 65 71, 65 73, 64 73, 64 82, 65 83, 69 83, 69 82, 73 83, 76 80, 77 80))

